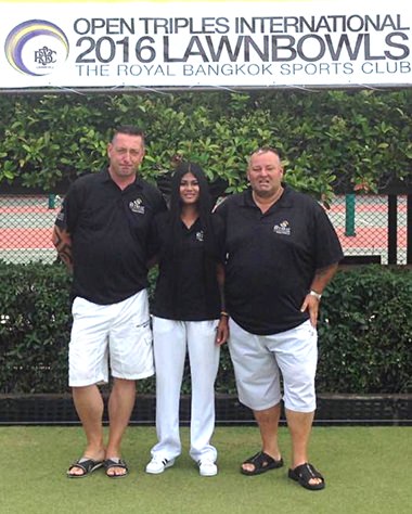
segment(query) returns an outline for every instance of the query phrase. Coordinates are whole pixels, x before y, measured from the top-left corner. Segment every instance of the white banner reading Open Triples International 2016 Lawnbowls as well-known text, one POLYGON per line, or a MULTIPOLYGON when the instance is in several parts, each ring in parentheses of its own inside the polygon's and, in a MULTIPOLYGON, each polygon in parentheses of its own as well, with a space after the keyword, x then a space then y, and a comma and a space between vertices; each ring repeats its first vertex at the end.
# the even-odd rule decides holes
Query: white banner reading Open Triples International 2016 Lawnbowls
POLYGON ((0 90, 410 87, 410 5, 0 0, 0 90))

